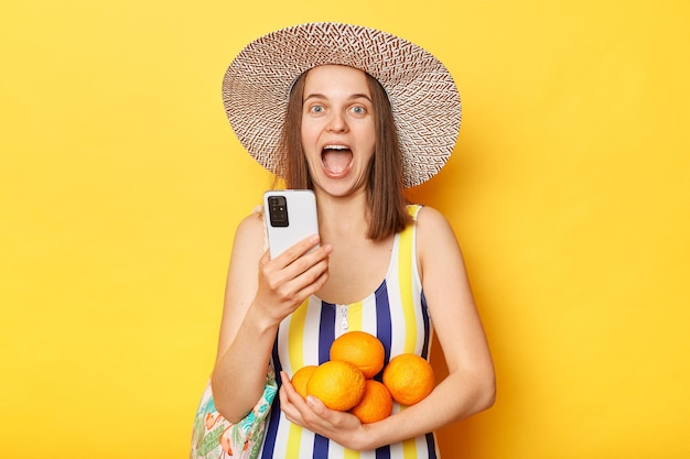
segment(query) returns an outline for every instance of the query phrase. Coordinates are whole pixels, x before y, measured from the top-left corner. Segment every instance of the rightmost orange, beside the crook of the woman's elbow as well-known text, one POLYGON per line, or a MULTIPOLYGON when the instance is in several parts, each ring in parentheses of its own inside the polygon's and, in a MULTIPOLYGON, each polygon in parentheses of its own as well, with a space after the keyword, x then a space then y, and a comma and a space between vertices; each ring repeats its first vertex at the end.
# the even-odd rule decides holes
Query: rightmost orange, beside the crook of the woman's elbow
POLYGON ((384 370, 384 384, 393 400, 402 405, 414 405, 431 393, 434 386, 433 369, 428 361, 413 353, 401 353, 384 370))

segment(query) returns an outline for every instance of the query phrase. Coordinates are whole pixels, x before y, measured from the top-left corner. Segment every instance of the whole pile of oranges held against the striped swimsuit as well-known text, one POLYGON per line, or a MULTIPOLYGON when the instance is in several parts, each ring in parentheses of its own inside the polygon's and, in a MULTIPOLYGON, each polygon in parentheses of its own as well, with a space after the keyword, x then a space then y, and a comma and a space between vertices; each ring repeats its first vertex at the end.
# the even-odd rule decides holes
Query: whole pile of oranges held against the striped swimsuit
POLYGON ((413 353, 396 356, 384 369, 384 345, 365 331, 348 331, 331 346, 331 360, 298 370, 291 379, 295 391, 313 395, 331 409, 349 412, 363 424, 375 423, 392 411, 392 401, 413 405, 434 386, 434 374, 413 353), (381 370, 382 383, 374 380, 381 370))

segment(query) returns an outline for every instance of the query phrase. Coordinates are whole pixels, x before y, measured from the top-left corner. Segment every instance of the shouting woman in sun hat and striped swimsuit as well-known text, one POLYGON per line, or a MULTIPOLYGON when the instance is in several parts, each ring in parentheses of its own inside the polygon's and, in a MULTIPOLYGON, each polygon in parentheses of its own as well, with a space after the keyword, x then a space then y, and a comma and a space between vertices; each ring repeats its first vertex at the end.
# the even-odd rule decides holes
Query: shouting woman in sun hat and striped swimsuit
POLYGON ((495 392, 453 231, 403 196, 455 143, 460 99, 450 74, 402 39, 303 24, 248 45, 226 74, 224 102, 257 161, 288 188, 313 189, 320 236, 271 260, 260 216, 239 225, 212 375, 218 412, 233 423, 246 416, 272 364, 280 392, 259 457, 439 457, 429 433, 487 408, 495 392), (289 381, 295 362, 322 363, 315 350, 352 329, 376 335, 386 361, 402 352, 428 359, 433 329, 449 375, 373 424, 302 398, 289 381))

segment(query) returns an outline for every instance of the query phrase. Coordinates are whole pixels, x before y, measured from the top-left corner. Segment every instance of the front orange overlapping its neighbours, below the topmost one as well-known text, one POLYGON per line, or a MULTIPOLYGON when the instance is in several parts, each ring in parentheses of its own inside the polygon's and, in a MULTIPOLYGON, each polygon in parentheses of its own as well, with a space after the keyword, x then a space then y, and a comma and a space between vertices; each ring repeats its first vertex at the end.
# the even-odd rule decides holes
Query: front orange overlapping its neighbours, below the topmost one
POLYGON ((319 365, 306 383, 306 394, 313 395, 331 409, 346 412, 364 395, 365 378, 349 362, 328 361, 319 365))

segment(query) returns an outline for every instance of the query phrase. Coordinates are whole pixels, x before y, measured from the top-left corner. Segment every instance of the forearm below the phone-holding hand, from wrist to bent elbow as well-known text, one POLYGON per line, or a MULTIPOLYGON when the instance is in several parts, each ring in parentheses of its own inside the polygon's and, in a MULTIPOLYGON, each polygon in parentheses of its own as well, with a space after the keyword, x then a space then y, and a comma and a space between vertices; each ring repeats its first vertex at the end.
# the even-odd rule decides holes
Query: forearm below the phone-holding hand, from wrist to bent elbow
POLYGON ((277 325, 250 306, 233 343, 218 357, 212 375, 214 403, 228 420, 245 417, 261 397, 276 331, 277 325))

